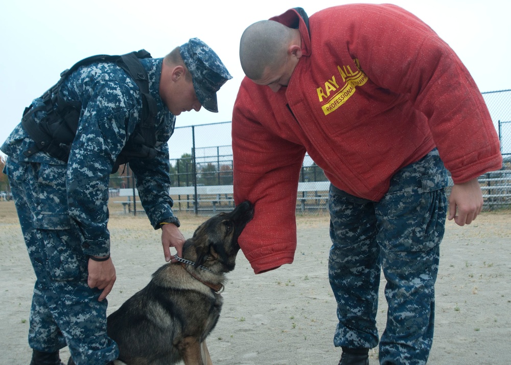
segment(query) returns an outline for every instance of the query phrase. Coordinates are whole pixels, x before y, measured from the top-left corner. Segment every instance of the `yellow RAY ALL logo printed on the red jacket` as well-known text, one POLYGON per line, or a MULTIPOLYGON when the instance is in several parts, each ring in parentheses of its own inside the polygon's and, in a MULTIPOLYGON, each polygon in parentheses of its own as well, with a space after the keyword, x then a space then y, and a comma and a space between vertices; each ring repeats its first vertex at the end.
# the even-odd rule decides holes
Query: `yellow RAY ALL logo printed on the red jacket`
POLYGON ((337 71, 342 79, 342 85, 339 85, 335 75, 333 75, 330 80, 324 83, 324 88, 320 86, 316 89, 320 103, 327 99, 326 103, 321 105, 324 115, 329 115, 337 110, 355 94, 357 86, 362 86, 367 82, 368 78, 360 69, 359 60, 355 59, 354 61, 357 66, 355 71, 351 69, 350 65, 337 66, 337 71))

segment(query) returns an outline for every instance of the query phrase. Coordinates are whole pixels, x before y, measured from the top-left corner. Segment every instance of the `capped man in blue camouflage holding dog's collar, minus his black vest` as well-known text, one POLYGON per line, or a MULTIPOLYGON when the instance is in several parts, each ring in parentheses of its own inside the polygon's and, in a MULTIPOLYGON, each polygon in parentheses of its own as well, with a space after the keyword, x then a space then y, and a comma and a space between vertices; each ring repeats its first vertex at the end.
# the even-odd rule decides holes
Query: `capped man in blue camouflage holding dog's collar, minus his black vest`
MULTIPOLYGON (((175 118, 201 106, 217 112, 216 92, 231 78, 211 48, 190 39, 165 58, 144 58, 149 92, 156 101, 156 157, 133 158, 130 168, 144 210, 161 228, 167 261, 170 247, 181 255, 184 237, 169 196, 167 142, 175 118), (173 223, 173 224, 166 224, 173 223)), ((39 151, 18 125, 2 146, 21 229, 36 273, 30 315, 32 365, 58 365, 69 346, 69 363, 106 364, 117 345, 106 334, 108 293, 115 282, 110 258, 108 183, 114 162, 141 121, 142 98, 135 82, 118 65, 94 63, 69 75, 60 96, 81 103, 68 162, 39 151)), ((42 102, 34 100, 32 107, 42 102)), ((35 115, 36 123, 44 111, 35 115)))

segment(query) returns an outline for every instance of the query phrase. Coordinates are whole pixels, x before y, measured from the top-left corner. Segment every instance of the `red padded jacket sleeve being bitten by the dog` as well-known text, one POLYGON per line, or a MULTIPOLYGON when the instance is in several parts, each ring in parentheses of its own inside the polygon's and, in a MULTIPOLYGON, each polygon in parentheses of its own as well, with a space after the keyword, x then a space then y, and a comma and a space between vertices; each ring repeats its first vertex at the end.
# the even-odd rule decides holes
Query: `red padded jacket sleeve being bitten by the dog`
MULTIPOLYGON (((254 217, 238 242, 255 273, 293 262, 296 250, 296 191, 305 148, 286 141, 261 124, 255 95, 245 79, 234 106, 232 134, 234 199, 249 200, 254 217)), ((264 119, 262 119, 264 118, 264 119)))

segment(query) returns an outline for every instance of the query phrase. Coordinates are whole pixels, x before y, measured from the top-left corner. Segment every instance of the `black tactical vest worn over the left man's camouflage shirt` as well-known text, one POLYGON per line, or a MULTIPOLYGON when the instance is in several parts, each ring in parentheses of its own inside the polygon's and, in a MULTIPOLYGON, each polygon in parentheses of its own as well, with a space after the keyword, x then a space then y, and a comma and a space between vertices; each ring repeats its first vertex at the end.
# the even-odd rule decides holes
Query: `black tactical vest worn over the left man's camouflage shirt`
POLYGON ((147 72, 140 63, 139 58, 150 58, 146 50, 131 52, 121 56, 96 55, 84 58, 75 63, 71 69, 60 74, 60 80, 42 96, 43 105, 34 106, 31 104, 25 108, 21 118, 21 126, 34 140, 35 146, 30 147, 23 153, 28 157, 38 151, 47 152, 52 157, 67 162, 69 151, 75 139, 80 119, 81 103, 73 101, 66 102, 60 96, 60 87, 67 75, 73 73, 78 67, 89 65, 95 62, 112 62, 122 67, 128 76, 136 83, 142 95, 142 120, 137 124, 135 131, 129 137, 126 145, 117 157, 112 168, 112 173, 119 169, 119 166, 128 162, 131 158, 154 158, 156 150, 156 135, 154 119, 156 117, 156 101, 149 94, 149 80, 147 72), (45 111, 46 116, 36 123, 34 120, 37 111, 45 111))

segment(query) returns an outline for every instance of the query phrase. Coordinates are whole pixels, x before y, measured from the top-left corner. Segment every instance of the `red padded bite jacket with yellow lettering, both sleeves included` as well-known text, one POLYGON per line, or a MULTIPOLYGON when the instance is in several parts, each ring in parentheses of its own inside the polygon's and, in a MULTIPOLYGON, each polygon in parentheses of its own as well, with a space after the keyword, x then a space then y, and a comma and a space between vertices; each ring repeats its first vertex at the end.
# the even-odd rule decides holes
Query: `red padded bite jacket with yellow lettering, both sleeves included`
POLYGON ((235 200, 255 204, 239 242, 256 273, 293 261, 306 151, 334 186, 374 201, 434 147, 456 184, 502 167, 472 77, 414 15, 345 5, 272 20, 299 29, 303 55, 277 93, 243 80, 232 127, 235 200))

